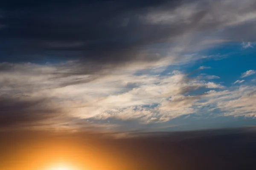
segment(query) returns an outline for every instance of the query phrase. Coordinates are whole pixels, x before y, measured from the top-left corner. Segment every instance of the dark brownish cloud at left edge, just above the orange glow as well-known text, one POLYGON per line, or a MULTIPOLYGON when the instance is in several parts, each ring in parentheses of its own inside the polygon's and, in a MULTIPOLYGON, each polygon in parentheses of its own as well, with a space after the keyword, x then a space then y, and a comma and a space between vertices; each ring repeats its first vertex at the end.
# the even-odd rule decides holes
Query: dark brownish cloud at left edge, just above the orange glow
POLYGON ((50 120, 61 115, 61 110, 49 108, 47 99, 22 99, 0 97, 0 127, 24 127, 42 125, 41 121, 50 120))

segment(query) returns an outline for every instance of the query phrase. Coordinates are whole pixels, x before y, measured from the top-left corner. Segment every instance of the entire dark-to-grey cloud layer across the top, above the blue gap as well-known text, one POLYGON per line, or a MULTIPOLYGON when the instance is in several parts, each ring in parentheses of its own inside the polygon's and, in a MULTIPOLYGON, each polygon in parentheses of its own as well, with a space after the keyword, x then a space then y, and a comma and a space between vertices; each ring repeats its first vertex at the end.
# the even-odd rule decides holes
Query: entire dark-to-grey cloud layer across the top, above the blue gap
POLYGON ((81 66, 74 68, 74 74, 106 74, 135 63, 189 62, 196 57, 184 56, 186 52, 255 39, 254 34, 238 34, 253 32, 253 0, 120 1, 114 6, 75 0, 61 8, 55 0, 39 4, 40 10, 38 4, 3 6, 0 24, 6 27, 0 32, 5 44, 1 61, 79 61, 81 66), (248 23, 252 26, 245 26, 248 23))

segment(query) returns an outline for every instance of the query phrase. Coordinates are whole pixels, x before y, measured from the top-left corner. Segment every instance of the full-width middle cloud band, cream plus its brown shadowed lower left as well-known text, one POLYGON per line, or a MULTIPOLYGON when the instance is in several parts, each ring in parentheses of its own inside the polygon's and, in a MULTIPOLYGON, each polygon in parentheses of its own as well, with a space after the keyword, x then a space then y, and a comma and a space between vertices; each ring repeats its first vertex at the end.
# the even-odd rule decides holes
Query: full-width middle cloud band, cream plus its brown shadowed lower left
POLYGON ((4 63, 0 68, 3 128, 126 131, 189 114, 256 113, 254 86, 228 88, 177 70, 167 76, 119 70, 100 79, 64 86, 86 80, 88 75, 58 77, 68 71, 69 63, 4 63), (201 94, 195 94, 197 91, 201 94))

